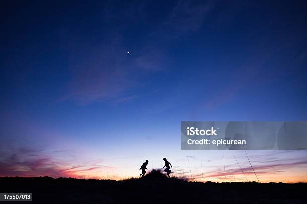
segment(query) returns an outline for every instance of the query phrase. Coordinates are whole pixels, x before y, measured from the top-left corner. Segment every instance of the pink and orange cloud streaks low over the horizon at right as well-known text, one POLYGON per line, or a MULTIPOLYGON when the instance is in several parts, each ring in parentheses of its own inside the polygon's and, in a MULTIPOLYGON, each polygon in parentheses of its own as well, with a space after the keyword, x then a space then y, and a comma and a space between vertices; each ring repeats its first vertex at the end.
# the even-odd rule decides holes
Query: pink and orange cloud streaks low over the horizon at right
MULTIPOLYGON (((307 159, 304 154, 302 153, 301 156, 298 156, 297 152, 293 151, 272 151, 250 155, 250 160, 260 182, 274 181, 280 177, 286 180, 292 176, 291 172, 296 174, 296 176, 299 173, 305 174, 302 170, 307 167, 307 159), (296 154, 295 158, 293 158, 294 154, 296 154)), ((233 159, 226 158, 227 164, 225 165, 225 171, 221 166, 220 168, 211 166, 209 167, 210 170, 207 169, 203 173, 199 173, 198 171, 193 172, 192 177, 189 174, 186 174, 186 176, 190 180, 204 179, 221 182, 225 181, 225 176, 228 181, 246 181, 246 176, 248 181, 256 181, 255 173, 249 162, 246 162, 246 158, 240 157, 238 160, 241 168, 233 159)))

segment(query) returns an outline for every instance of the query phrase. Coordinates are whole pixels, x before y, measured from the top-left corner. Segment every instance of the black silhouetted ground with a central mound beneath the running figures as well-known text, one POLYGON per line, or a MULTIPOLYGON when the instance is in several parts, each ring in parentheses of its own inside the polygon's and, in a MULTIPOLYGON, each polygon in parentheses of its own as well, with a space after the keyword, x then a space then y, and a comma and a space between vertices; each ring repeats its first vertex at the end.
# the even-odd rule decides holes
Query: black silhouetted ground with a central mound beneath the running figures
POLYGON ((186 182, 156 171, 124 181, 0 178, 1 193, 33 193, 37 203, 307 203, 306 187, 307 183, 186 182))

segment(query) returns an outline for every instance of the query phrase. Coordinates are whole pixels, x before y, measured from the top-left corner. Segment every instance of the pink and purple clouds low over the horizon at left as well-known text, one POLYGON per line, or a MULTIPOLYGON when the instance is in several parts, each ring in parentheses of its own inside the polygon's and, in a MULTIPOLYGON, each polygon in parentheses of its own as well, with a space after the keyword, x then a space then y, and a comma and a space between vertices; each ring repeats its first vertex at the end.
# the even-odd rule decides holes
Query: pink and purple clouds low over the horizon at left
POLYGON ((72 161, 63 161, 55 158, 53 154, 54 152, 48 153, 43 150, 29 148, 2 151, 2 159, 0 159, 0 176, 79 178, 82 177, 84 173, 91 174, 91 172, 98 169, 113 169, 111 166, 102 165, 100 160, 88 161, 72 166, 72 161))

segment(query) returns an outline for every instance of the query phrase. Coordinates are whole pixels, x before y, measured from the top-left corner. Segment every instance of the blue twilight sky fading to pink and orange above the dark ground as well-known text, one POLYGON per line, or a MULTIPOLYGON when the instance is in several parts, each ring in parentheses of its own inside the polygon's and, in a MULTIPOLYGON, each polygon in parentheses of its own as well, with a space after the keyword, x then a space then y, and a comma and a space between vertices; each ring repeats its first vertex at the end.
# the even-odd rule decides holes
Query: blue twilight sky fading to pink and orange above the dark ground
MULTIPOLYGON (((120 180, 166 157, 189 180, 257 181, 244 151, 182 151, 181 121, 307 120, 304 1, 0 9, 0 176, 120 180)), ((261 182, 307 179, 307 151, 247 154, 261 182)))

